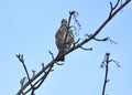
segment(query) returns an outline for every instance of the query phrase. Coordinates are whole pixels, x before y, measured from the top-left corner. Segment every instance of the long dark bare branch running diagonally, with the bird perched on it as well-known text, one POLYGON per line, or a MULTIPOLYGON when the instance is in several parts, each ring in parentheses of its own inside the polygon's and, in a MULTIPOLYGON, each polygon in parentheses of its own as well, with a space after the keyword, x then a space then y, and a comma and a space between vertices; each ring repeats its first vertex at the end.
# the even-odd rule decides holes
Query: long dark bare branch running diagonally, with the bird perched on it
MULTIPOLYGON (((118 0, 118 2, 119 2, 120 0, 118 0)), ((127 0, 124 3, 122 3, 122 6, 120 6, 119 8, 117 8, 116 6, 116 8, 114 8, 114 11, 112 11, 112 12, 110 12, 110 15, 106 19, 106 21, 97 29, 97 31, 95 31, 95 33, 90 36, 90 38, 87 38, 87 39, 85 39, 84 41, 81 41, 81 42, 77 42, 77 44, 75 44, 67 53, 65 53, 64 55, 67 55, 67 54, 69 54, 70 52, 73 52, 73 51, 75 51, 75 50, 77 50, 77 49, 79 49, 79 48, 82 48, 82 45, 84 44, 86 44, 86 43, 88 43, 90 40, 94 40, 95 38, 96 38, 96 35, 98 35, 99 33, 100 33, 100 31, 107 25, 107 23, 121 10, 121 9, 123 9, 129 2, 130 2, 131 0, 127 0)), ((117 3, 118 3, 117 2, 117 3)), ((113 9, 112 9, 113 10, 113 9)), ((72 20, 72 17, 74 15, 74 13, 75 13, 76 11, 72 11, 72 12, 69 12, 69 19, 68 19, 68 28, 70 28, 70 20, 72 20)), ((19 55, 16 55, 16 57, 19 59, 19 61, 21 62, 21 63, 23 63, 24 62, 24 60, 23 60, 23 56, 21 56, 20 54, 19 55)), ((19 89, 19 92, 16 93, 16 95, 21 95, 22 93, 29 93, 30 91, 32 91, 33 93, 34 93, 34 88, 37 88, 37 87, 40 87, 38 85, 41 85, 44 81, 45 81, 45 78, 47 77, 47 75, 50 74, 50 72, 52 71, 52 67, 54 66, 54 64, 57 62, 57 60, 61 57, 61 54, 58 53, 57 54, 57 56, 56 57, 54 57, 53 59, 53 61, 51 61, 48 64, 46 64, 45 66, 44 66, 44 68, 42 68, 42 70, 40 70, 40 72, 37 72, 33 77, 31 77, 30 78, 30 75, 29 75, 29 73, 28 73, 28 71, 26 71, 26 68, 24 68, 25 70, 25 72, 26 72, 26 75, 28 75, 28 78, 29 78, 29 81, 26 82, 26 83, 24 83, 23 84, 23 87, 22 88, 20 88, 19 89), (45 73, 46 72, 46 73, 45 73), (44 75, 43 75, 44 74, 44 75), (40 80, 38 80, 38 77, 40 76, 42 76, 40 80), (36 81, 37 80, 37 81, 36 81), (36 81, 36 82, 35 82, 36 81), (31 86, 31 88, 30 89, 28 89, 26 92, 24 92, 24 89, 26 89, 26 87, 29 87, 29 85, 31 85, 31 83, 33 83, 33 82, 35 82, 34 84, 33 84, 33 86, 31 86), (40 83, 40 84, 38 84, 40 83), (37 86, 35 87, 35 85, 37 84, 37 86)), ((23 64, 24 65, 24 64, 23 64)))

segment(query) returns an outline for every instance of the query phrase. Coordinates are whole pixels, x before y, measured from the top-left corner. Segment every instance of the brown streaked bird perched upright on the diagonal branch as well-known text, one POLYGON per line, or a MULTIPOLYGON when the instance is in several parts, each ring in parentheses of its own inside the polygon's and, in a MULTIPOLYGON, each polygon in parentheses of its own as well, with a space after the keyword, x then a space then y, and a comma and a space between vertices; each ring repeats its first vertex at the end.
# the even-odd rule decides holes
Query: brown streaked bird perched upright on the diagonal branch
POLYGON ((58 61, 65 61, 64 54, 70 49, 74 42, 73 30, 68 28, 67 20, 63 19, 61 28, 55 34, 55 43, 57 45, 61 59, 58 61))

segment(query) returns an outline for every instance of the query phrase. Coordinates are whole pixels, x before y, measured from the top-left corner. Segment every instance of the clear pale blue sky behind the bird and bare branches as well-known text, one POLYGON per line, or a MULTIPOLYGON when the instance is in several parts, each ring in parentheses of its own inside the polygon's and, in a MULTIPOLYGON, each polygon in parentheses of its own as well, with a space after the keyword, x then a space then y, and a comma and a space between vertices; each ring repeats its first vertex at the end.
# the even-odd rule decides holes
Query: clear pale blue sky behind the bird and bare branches
MULTIPOLYGON (((112 0, 116 3, 116 0, 112 0)), ((124 0, 123 0, 124 1, 124 0)), ((81 31, 78 36, 94 33, 110 11, 110 0, 0 0, 0 95, 15 95, 25 76, 15 54, 23 54, 30 74, 38 72, 57 54, 55 33, 69 11, 78 11, 81 31)), ((36 95, 101 95, 106 52, 121 67, 110 64, 106 93, 132 95, 132 3, 120 11, 97 36, 110 36, 118 44, 90 41, 85 48, 66 56, 63 66, 55 65, 36 95)))

